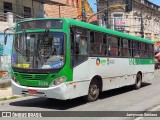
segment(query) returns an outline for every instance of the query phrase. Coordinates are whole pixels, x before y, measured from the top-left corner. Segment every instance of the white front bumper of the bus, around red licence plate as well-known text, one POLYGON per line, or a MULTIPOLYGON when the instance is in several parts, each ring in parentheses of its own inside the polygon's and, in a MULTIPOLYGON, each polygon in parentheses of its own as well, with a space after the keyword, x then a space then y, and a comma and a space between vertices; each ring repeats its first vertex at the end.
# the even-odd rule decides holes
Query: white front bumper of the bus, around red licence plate
POLYGON ((14 82, 13 80, 11 80, 11 83, 12 83, 12 93, 14 95, 42 96, 42 97, 55 98, 60 100, 68 99, 67 85, 65 83, 62 83, 55 87, 49 87, 49 88, 21 86, 16 82, 14 82), (36 90, 37 94, 30 94, 28 90, 36 90))

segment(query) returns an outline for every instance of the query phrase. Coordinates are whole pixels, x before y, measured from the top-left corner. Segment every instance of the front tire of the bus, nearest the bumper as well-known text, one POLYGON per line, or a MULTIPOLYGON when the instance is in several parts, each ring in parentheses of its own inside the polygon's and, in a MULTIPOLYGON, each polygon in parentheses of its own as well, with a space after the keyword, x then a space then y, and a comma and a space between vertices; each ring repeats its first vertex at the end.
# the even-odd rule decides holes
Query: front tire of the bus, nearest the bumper
POLYGON ((89 85, 88 95, 84 97, 87 102, 96 101, 99 97, 100 85, 97 80, 91 81, 89 85))

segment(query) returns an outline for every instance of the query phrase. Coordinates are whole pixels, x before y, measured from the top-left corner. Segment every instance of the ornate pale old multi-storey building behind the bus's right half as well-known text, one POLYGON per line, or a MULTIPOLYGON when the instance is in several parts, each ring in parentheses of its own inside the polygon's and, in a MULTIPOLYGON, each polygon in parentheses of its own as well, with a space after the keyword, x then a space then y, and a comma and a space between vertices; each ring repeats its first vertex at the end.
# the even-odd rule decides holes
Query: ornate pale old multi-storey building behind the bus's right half
POLYGON ((101 26, 160 41, 160 6, 148 0, 97 0, 97 10, 101 26))

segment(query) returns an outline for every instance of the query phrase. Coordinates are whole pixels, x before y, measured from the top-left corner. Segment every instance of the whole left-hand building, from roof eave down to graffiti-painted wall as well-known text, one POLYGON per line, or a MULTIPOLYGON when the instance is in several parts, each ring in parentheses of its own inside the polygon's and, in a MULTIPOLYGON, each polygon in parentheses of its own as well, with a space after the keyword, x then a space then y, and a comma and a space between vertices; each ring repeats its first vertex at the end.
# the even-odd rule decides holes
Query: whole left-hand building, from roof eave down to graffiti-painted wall
POLYGON ((44 4, 61 5, 51 0, 0 0, 0 83, 10 80, 11 72, 13 34, 9 33, 4 45, 4 30, 14 27, 19 19, 44 17, 44 4))

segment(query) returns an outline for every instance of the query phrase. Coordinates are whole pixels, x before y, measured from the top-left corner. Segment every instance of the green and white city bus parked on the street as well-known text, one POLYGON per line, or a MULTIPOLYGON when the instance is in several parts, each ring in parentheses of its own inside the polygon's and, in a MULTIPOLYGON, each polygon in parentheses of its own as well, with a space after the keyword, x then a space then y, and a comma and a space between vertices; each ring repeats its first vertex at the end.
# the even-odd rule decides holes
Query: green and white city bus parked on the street
POLYGON ((154 42, 71 18, 35 18, 16 23, 12 92, 60 100, 154 77, 154 42))

